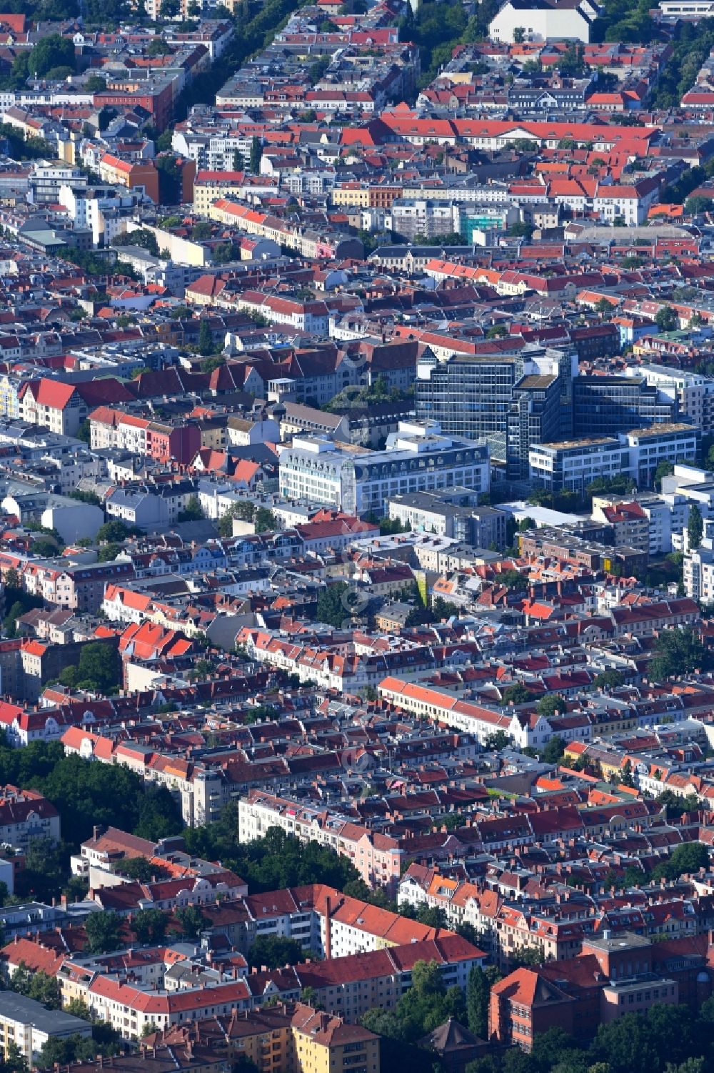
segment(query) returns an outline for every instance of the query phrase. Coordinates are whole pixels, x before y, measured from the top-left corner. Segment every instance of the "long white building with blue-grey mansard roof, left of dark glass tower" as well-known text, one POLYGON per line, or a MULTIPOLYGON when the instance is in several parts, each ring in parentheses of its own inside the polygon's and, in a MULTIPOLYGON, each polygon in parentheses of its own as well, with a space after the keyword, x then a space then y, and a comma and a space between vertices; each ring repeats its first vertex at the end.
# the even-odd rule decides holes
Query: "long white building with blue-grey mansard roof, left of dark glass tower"
POLYGON ((489 452, 485 444, 443 436, 433 422, 401 422, 384 451, 296 436, 281 451, 279 482, 289 499, 383 517, 391 496, 455 486, 488 491, 489 452))

